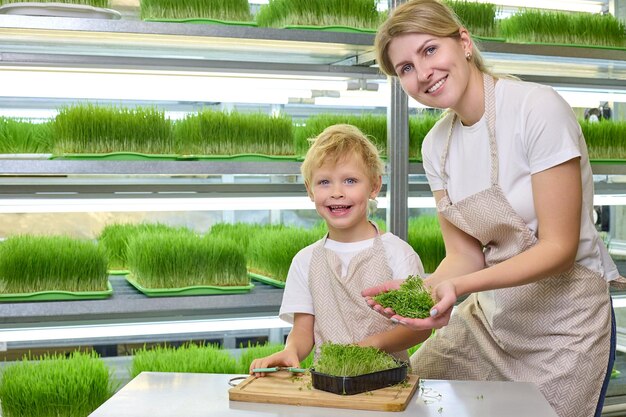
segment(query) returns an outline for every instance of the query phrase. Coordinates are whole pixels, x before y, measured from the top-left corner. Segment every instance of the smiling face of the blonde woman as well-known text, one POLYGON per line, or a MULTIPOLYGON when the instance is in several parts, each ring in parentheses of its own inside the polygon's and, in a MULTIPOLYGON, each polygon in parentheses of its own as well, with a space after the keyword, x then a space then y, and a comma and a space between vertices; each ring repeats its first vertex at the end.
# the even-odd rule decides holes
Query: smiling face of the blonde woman
POLYGON ((391 41, 389 58, 410 97, 428 107, 462 109, 471 71, 466 53, 472 49, 467 32, 460 35, 409 33, 391 41))

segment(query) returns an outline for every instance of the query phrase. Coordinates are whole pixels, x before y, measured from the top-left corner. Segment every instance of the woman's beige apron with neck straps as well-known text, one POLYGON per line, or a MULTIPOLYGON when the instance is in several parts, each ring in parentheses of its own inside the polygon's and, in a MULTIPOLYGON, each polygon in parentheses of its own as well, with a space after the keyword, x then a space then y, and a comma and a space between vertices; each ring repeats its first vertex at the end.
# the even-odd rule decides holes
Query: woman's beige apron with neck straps
MULTIPOLYGON (((437 210, 478 239, 487 267, 537 243, 498 185, 493 79, 485 76, 485 113, 491 147, 491 187, 437 210)), ((445 163, 452 129, 442 155, 445 163)), ((610 349, 607 282, 580 264, 538 282, 471 294, 411 357, 423 378, 515 380, 536 383, 561 417, 594 415, 610 349)))

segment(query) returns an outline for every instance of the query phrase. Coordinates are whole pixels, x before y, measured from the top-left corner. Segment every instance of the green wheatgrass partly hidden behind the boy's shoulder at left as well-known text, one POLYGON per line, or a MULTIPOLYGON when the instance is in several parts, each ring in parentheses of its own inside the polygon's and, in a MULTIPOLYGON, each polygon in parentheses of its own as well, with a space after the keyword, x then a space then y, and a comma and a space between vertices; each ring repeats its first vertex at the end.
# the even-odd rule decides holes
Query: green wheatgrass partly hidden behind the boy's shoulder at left
POLYGON ((299 227, 259 231, 248 246, 249 269, 277 281, 286 281, 293 257, 323 236, 320 229, 299 227))

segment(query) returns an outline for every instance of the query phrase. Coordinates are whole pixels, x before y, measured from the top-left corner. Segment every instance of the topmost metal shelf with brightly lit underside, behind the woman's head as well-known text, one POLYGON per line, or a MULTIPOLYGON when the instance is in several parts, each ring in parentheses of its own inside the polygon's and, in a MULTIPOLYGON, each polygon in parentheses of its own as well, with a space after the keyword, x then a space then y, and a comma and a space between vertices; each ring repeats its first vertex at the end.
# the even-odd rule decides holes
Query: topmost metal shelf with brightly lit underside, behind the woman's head
MULTIPOLYGON (((382 76, 374 34, 0 16, 0 65, 382 76)), ((626 89, 626 50, 479 42, 499 73, 558 86, 626 89)))

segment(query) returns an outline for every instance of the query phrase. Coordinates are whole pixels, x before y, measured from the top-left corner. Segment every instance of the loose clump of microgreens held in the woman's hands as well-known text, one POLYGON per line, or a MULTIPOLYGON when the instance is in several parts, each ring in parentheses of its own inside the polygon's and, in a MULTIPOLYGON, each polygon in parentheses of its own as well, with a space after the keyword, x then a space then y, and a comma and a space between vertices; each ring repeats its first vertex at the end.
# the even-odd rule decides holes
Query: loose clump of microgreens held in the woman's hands
POLYGON ((435 305, 419 275, 410 275, 397 290, 378 294, 372 299, 385 308, 393 309, 399 316, 411 319, 430 317, 430 309, 435 305))

